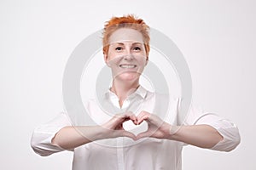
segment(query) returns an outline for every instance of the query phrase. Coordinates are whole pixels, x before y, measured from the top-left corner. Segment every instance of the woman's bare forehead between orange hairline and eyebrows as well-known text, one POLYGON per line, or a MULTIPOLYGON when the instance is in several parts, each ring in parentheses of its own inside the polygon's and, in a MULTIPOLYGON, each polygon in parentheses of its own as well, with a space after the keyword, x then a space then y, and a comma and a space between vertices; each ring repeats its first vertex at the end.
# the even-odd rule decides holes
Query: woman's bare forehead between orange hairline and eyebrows
POLYGON ((129 41, 143 43, 143 34, 131 28, 119 28, 117 31, 113 31, 108 39, 108 43, 129 41))

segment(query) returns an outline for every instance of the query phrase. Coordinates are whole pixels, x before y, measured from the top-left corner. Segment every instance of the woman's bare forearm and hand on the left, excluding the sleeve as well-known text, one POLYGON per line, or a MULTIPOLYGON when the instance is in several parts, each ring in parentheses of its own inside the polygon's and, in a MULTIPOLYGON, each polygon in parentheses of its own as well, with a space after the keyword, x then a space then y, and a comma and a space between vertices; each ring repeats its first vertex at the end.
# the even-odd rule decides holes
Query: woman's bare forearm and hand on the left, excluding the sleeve
POLYGON ((137 124, 137 117, 127 112, 113 116, 102 126, 63 127, 52 139, 52 144, 59 145, 66 150, 72 150, 82 144, 87 144, 99 139, 128 137, 136 139, 133 133, 125 131, 123 123, 131 120, 137 124))

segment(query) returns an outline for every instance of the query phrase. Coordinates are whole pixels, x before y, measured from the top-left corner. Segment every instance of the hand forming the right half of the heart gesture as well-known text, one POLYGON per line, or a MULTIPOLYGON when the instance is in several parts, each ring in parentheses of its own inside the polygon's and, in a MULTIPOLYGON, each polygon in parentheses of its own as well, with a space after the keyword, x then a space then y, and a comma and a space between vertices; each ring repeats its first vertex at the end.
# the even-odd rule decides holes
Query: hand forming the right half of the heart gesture
POLYGON ((150 114, 147 111, 142 111, 137 116, 137 124, 141 124, 143 121, 148 122, 148 130, 143 133, 137 134, 137 139, 146 137, 156 139, 169 139, 171 125, 162 121, 159 116, 150 114))

